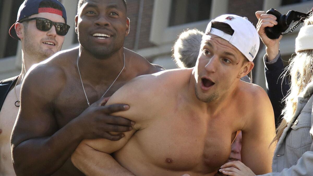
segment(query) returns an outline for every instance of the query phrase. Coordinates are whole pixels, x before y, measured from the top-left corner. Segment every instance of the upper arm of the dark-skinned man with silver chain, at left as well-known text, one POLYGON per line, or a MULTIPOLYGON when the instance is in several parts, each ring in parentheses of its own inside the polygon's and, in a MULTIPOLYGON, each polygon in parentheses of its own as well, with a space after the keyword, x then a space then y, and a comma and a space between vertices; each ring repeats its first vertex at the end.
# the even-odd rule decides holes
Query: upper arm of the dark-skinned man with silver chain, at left
POLYGON ((36 76, 24 79, 20 109, 12 133, 14 145, 32 138, 51 136, 58 128, 52 111, 54 91, 40 83, 42 81, 36 76))

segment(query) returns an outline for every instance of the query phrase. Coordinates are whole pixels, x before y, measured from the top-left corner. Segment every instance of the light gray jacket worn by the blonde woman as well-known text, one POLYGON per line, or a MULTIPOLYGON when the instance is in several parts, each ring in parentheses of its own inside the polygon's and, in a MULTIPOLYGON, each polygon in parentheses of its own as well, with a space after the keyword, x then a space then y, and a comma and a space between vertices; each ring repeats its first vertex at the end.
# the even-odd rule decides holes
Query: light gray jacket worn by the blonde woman
POLYGON ((298 97, 295 114, 277 143, 272 170, 266 176, 313 176, 313 82, 298 97))

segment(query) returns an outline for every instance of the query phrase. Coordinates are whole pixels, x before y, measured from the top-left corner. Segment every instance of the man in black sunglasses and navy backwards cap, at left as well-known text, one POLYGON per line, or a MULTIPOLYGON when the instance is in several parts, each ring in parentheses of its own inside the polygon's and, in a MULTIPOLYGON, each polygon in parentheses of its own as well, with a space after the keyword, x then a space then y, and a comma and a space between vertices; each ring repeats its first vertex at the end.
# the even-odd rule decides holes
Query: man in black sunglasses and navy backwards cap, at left
POLYGON ((68 30, 65 8, 57 0, 25 0, 18 10, 9 34, 21 41, 22 71, 18 76, 0 81, 0 175, 15 174, 10 136, 25 74, 32 65, 61 50, 68 30))

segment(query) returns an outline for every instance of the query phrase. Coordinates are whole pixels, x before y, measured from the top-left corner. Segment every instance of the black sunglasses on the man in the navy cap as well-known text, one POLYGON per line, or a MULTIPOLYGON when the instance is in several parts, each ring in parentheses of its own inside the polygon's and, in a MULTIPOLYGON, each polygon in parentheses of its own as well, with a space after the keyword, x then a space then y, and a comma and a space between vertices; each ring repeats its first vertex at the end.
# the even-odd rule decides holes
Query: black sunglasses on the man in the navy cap
POLYGON ((31 21, 31 20, 36 20, 36 27, 38 30, 41 30, 41 31, 49 31, 52 28, 52 25, 54 25, 55 31, 58 35, 64 36, 67 34, 67 32, 69 32, 69 28, 70 28, 69 25, 65 23, 56 23, 46 18, 38 18, 38 17, 29 18, 29 19, 22 20, 19 23, 23 23, 25 21, 31 21))

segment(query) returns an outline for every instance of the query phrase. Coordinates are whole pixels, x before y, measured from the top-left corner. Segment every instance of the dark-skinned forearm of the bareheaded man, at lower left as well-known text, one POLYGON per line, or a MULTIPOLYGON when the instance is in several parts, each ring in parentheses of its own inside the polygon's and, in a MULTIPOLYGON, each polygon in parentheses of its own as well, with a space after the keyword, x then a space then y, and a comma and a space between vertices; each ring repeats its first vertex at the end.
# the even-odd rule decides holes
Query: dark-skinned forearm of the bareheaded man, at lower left
POLYGON ((70 125, 50 137, 23 141, 13 146, 15 172, 17 175, 51 175, 62 167, 80 141, 80 135, 70 125))

